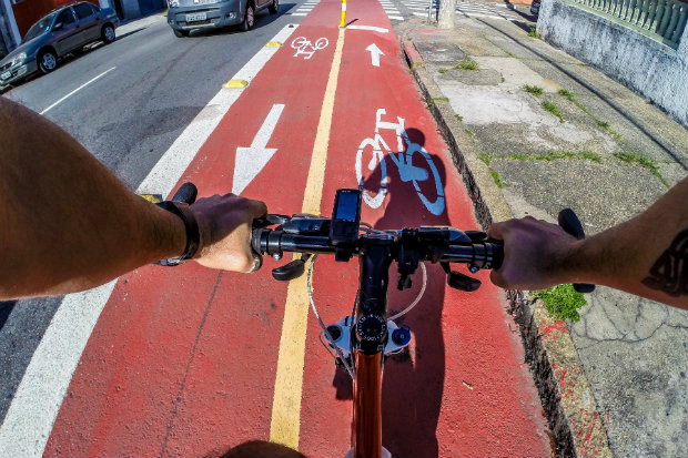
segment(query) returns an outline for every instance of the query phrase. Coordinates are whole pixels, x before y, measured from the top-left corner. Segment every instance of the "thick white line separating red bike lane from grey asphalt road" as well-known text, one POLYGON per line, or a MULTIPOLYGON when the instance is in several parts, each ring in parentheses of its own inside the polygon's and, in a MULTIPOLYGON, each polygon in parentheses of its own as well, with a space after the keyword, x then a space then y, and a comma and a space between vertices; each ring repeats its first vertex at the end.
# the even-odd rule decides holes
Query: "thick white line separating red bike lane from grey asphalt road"
MULTIPOLYGON (((286 41, 296 27, 286 26, 270 41, 286 41)), ((263 47, 233 79, 250 82, 279 49, 263 47)), ((201 145, 242 92, 243 88, 221 89, 162 155, 136 192, 169 195, 201 145)), ((62 299, 0 426, 2 458, 42 457, 81 354, 114 285, 113 281, 62 299)))

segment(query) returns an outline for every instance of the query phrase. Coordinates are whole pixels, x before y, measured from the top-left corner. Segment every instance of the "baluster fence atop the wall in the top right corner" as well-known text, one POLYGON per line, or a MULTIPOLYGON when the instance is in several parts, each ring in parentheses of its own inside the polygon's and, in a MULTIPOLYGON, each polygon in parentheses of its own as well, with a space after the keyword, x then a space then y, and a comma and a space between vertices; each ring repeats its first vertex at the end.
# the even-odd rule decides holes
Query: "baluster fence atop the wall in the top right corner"
POLYGON ((678 48, 688 18, 688 3, 679 0, 569 0, 617 22, 657 35, 671 48, 678 48))

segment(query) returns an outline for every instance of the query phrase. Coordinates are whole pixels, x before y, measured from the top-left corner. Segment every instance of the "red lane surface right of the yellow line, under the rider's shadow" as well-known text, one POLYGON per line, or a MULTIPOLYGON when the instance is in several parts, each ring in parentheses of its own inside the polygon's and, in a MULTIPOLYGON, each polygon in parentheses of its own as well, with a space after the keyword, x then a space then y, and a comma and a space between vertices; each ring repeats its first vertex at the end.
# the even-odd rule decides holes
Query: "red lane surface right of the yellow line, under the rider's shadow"
MULTIPOLYGON (((377 2, 352 1, 347 7, 346 21, 363 30, 346 30, 322 213, 331 214, 336 189, 356 187, 357 152, 364 139, 376 140, 376 115, 384 109, 381 121, 398 124, 398 118, 404 119, 409 141, 423 146, 427 155, 416 147, 413 167, 404 166, 398 153, 405 144, 399 150, 395 132, 381 129, 382 141, 396 159, 385 156, 386 195, 376 208, 364 203, 362 221, 376 228, 454 225, 479 230, 451 153, 399 58, 398 39, 384 10, 377 2), (388 32, 365 30, 370 26, 388 32), (380 67, 374 64, 373 44, 384 53, 378 55, 380 67), (417 177, 418 190, 411 176, 417 177)), ((365 145, 358 162, 365 192, 375 205, 382 166, 373 160, 372 150, 365 145)), ((471 275, 465 267, 454 268, 471 275)), ((357 271, 355 259, 345 265, 318 258, 314 298, 325 324, 351 313, 357 271)), ((412 329, 409 355, 385 364, 383 445, 398 457, 552 456, 542 405, 522 363, 520 337, 504 311, 503 292, 489 283, 486 272, 477 275, 482 288, 465 293, 446 286, 441 266, 428 263, 427 271, 423 299, 397 320, 412 329)), ((398 292, 397 277, 391 271, 389 315, 411 304, 422 284, 418 272, 414 287, 398 292)), ((320 333, 320 325, 311 319, 300 446, 307 456, 342 456, 350 447, 351 381, 345 370, 335 372, 332 357, 317 339, 320 333)))

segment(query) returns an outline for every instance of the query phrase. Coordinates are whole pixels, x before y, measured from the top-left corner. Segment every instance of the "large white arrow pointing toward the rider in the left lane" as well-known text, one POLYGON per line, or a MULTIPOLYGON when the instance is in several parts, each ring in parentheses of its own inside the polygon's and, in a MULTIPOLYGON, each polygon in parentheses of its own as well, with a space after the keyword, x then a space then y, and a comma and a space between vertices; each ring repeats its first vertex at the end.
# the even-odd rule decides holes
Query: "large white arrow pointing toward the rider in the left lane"
POLYGON ((267 113, 267 118, 263 121, 263 125, 255 134, 251 146, 236 149, 236 161, 234 165, 234 180, 232 184, 232 193, 239 195, 246 186, 257 176, 265 164, 272 159, 277 151, 276 147, 265 147, 267 141, 272 136, 272 132, 277 125, 277 121, 282 115, 284 105, 275 103, 267 113))

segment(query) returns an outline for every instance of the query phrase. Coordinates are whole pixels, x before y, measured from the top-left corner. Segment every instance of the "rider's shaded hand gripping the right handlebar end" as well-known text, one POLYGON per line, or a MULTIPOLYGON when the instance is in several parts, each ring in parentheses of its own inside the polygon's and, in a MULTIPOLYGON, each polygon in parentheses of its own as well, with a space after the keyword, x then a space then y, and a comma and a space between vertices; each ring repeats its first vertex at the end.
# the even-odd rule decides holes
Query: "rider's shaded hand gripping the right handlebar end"
POLYGON ((495 285, 544 289, 575 281, 569 261, 578 241, 560 226, 526 216, 493 224, 487 236, 504 241, 504 263, 489 276, 495 285))

